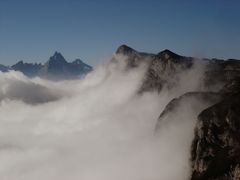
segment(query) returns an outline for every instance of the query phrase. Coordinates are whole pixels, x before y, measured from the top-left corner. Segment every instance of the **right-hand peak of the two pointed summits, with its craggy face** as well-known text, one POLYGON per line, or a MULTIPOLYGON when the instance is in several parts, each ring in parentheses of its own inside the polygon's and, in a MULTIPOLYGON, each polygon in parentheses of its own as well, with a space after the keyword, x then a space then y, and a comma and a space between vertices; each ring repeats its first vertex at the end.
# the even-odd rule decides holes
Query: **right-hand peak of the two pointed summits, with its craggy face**
POLYGON ((176 85, 179 73, 193 66, 193 58, 179 56, 169 50, 164 50, 151 60, 141 91, 158 91, 163 86, 171 88, 176 85))

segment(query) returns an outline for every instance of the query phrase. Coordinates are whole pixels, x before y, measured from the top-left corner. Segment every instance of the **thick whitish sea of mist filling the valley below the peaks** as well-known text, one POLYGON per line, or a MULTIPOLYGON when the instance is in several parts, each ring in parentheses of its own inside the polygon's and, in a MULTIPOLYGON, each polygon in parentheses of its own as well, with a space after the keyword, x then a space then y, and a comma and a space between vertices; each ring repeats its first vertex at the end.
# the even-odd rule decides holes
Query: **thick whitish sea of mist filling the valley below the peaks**
POLYGON ((154 130, 172 98, 197 90, 203 66, 171 91, 138 94, 147 67, 123 62, 59 82, 0 73, 0 179, 188 179, 193 107, 204 103, 184 102, 154 130))

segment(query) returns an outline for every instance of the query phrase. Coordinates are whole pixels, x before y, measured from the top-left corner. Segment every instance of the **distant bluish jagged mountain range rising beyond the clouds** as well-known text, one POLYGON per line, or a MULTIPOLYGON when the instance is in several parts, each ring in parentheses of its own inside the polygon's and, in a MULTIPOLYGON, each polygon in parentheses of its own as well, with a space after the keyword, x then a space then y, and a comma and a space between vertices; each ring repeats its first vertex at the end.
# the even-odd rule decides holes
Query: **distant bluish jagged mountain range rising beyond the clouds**
POLYGON ((15 70, 29 77, 39 76, 51 80, 73 79, 92 71, 92 69, 90 65, 80 59, 67 62, 59 52, 55 52, 44 64, 24 63, 23 61, 19 61, 12 66, 0 64, 0 71, 2 72, 15 70))

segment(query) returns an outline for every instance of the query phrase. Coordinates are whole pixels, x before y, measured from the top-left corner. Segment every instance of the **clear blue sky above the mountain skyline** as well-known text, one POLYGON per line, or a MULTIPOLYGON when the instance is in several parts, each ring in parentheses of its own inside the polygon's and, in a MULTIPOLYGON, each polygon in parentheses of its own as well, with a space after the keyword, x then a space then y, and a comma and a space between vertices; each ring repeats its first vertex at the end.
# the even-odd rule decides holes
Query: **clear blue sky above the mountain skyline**
POLYGON ((121 44, 240 59, 240 0, 0 0, 0 64, 95 65, 121 44))

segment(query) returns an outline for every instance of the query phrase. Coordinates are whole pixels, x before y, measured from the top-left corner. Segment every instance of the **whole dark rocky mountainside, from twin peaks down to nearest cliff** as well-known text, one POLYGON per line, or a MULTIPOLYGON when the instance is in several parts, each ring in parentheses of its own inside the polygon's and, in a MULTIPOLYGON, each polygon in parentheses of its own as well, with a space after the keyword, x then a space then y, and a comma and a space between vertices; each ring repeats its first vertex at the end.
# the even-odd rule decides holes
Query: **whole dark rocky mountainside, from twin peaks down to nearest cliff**
POLYGON ((240 61, 199 60, 169 50, 148 54, 137 52, 126 45, 118 48, 116 55, 119 54, 126 57, 130 68, 142 62, 147 65, 140 93, 161 93, 164 89, 173 92, 175 88, 175 94, 180 96, 173 97, 159 116, 156 132, 161 128, 161 123, 166 121, 165 117, 171 117, 175 109, 183 105, 183 101, 202 101, 197 106, 191 106, 196 113, 191 116, 196 119, 189 152, 191 179, 240 179, 240 61), (201 71, 196 71, 196 64, 200 64, 197 67, 201 67, 201 71), (193 78, 184 76, 186 73, 193 78), (186 86, 188 81, 192 83, 191 80, 199 81, 197 86, 182 90, 180 82, 184 81, 186 86))

